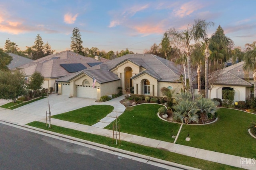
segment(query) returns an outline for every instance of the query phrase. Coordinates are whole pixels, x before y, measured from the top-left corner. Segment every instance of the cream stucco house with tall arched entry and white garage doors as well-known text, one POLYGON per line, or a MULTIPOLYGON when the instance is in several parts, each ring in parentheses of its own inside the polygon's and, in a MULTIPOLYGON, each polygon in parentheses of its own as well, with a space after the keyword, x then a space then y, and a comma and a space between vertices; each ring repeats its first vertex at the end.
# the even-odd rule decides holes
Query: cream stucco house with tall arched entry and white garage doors
MULTIPOLYGON (((196 73, 196 72, 195 72, 196 73)), ((161 88, 180 92, 183 67, 152 54, 127 54, 57 79, 58 93, 70 97, 100 99, 134 87, 134 94, 162 96, 161 88), (93 79, 96 79, 93 85, 93 79)), ((193 76, 195 78, 195 75, 193 76)))

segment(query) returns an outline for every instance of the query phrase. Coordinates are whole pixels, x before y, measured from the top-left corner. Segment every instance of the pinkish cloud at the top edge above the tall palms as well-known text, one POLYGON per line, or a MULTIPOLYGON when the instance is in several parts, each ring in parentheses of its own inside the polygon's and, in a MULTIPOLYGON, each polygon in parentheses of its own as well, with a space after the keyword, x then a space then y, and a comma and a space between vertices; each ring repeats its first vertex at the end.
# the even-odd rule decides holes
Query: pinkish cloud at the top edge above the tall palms
POLYGON ((194 11, 203 8, 204 6, 196 1, 191 1, 185 4, 182 4, 179 9, 174 10, 174 15, 180 18, 192 14, 194 11))

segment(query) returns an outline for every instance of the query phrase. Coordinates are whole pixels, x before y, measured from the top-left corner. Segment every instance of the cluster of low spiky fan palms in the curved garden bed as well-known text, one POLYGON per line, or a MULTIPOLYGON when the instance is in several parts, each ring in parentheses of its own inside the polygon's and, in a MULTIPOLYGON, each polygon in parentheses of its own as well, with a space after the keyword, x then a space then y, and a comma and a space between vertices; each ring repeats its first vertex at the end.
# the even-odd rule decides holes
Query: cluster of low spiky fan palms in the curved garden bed
POLYGON ((216 111, 219 103, 202 95, 194 95, 188 91, 176 94, 176 104, 172 106, 173 120, 181 123, 207 123, 217 117, 216 111))

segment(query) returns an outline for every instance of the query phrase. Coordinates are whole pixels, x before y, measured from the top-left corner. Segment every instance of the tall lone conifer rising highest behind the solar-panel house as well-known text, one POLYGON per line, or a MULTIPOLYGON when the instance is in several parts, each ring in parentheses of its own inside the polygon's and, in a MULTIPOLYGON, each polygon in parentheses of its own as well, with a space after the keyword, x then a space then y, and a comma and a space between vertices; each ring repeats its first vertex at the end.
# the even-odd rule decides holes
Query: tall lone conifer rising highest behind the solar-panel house
POLYGON ((72 37, 71 37, 71 44, 70 47, 71 49, 78 53, 83 55, 83 46, 82 46, 83 41, 81 40, 81 34, 79 29, 76 27, 74 28, 73 32, 72 32, 72 37))

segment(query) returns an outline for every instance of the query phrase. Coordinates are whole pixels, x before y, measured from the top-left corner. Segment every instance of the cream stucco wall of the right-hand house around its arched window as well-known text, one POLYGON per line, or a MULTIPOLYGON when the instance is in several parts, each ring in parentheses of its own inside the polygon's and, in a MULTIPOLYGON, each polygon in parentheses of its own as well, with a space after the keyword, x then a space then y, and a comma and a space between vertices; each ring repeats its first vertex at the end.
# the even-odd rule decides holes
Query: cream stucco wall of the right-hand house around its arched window
POLYGON ((234 101, 245 101, 246 99, 246 87, 242 86, 224 86, 216 85, 211 91, 209 91, 209 97, 222 99, 222 87, 230 87, 235 91, 234 101))

